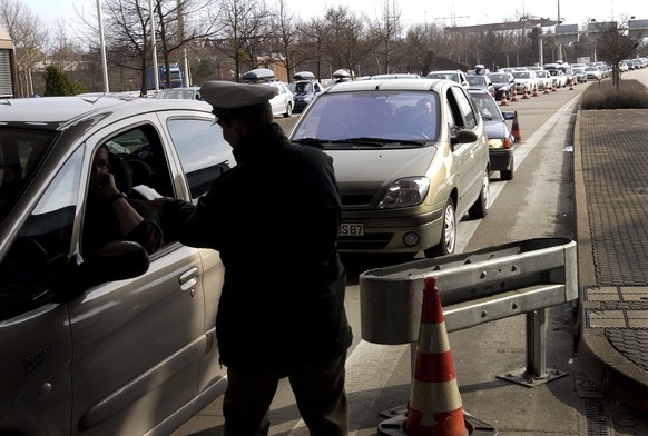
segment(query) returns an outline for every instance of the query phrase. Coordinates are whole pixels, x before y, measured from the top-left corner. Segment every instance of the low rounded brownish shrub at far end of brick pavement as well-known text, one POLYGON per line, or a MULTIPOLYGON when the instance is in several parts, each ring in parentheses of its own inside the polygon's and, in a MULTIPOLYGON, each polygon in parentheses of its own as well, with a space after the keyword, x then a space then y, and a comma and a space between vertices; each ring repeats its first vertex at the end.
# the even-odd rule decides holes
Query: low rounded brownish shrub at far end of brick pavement
POLYGON ((619 88, 611 80, 590 83, 580 98, 581 109, 646 109, 648 88, 637 80, 621 80, 619 88))

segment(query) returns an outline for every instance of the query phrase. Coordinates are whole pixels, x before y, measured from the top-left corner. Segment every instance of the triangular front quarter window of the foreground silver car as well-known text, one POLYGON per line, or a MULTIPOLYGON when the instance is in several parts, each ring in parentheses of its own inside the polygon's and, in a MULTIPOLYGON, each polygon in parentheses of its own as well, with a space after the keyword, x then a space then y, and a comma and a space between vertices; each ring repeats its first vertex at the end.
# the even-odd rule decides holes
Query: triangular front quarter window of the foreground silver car
POLYGON ((82 151, 56 175, 0 264, 0 320, 47 303, 52 271, 68 259, 77 210, 82 151))

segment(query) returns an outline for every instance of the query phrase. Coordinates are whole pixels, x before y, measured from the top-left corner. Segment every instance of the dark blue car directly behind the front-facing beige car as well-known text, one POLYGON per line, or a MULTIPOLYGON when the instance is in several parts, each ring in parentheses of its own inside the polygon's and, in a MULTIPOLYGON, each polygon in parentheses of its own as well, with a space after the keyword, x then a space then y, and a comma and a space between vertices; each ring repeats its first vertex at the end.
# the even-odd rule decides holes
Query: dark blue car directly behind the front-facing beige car
POLYGON ((516 112, 502 111, 492 96, 481 89, 469 89, 468 92, 472 97, 485 127, 491 171, 500 171, 502 180, 512 180, 516 138, 509 129, 507 120, 513 120, 516 112))

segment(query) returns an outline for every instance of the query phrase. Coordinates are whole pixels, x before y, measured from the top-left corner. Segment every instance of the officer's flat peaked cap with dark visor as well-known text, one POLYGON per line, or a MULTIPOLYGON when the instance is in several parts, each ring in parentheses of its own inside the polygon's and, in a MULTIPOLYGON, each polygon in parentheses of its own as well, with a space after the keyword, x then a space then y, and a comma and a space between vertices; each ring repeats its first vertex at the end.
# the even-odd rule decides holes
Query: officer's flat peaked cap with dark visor
POLYGON ((226 116, 248 106, 262 105, 277 95, 277 89, 267 85, 236 83, 212 80, 200 87, 200 96, 214 107, 214 113, 226 116))

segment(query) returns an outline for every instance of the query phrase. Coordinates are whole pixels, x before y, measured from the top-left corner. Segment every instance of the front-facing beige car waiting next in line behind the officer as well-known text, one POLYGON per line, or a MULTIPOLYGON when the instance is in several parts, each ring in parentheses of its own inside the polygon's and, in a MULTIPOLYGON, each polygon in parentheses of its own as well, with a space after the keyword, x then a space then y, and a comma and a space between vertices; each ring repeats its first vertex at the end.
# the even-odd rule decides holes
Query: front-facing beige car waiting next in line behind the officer
POLYGON ((289 138, 333 157, 344 252, 454 252, 456 222, 489 208, 484 125, 452 80, 360 80, 327 88, 289 138))

